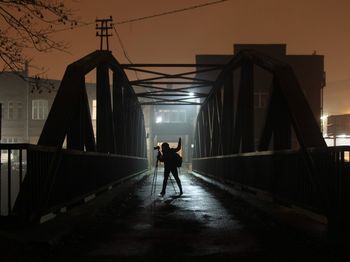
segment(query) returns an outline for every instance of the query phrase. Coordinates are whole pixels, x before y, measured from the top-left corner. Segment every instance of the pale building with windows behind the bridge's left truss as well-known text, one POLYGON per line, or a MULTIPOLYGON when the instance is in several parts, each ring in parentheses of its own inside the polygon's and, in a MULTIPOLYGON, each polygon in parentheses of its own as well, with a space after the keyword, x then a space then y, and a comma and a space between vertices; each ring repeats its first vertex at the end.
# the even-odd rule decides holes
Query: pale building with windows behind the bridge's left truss
MULTIPOLYGON (((60 83, 31 78, 27 70, 0 73, 2 143, 37 143, 60 83)), ((95 84, 86 87, 96 119, 95 84)))

